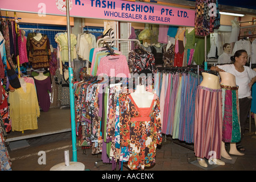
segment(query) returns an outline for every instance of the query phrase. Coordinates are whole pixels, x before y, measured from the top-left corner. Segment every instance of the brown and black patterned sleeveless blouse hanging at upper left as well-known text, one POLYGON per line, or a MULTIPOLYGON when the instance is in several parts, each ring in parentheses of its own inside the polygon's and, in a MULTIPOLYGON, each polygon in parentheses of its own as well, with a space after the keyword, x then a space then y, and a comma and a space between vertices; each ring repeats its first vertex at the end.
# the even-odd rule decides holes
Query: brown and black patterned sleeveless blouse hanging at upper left
POLYGON ((28 61, 30 61, 32 68, 34 69, 49 68, 51 49, 49 46, 49 39, 46 35, 42 35, 42 38, 39 41, 30 38, 28 61))

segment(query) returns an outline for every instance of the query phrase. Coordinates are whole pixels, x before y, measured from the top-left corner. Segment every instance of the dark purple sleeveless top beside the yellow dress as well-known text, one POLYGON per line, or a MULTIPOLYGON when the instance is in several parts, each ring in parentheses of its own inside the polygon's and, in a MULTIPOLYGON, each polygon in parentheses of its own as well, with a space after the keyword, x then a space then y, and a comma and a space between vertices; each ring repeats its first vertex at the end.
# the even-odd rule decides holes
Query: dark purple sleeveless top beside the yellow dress
POLYGON ((51 105, 48 93, 48 91, 52 92, 51 78, 47 77, 44 80, 34 80, 36 85, 36 93, 38 94, 39 106, 44 112, 47 112, 49 110, 49 106, 51 105))

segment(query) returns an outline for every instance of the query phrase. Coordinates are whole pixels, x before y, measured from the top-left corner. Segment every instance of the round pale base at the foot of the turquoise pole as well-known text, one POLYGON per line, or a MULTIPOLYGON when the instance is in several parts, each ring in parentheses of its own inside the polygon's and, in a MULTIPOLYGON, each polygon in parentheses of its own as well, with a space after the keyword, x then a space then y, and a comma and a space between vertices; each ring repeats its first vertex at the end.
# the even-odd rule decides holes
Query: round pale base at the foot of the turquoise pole
POLYGON ((70 162, 69 166, 66 166, 65 163, 60 163, 53 166, 50 171, 85 171, 85 166, 80 162, 70 162))

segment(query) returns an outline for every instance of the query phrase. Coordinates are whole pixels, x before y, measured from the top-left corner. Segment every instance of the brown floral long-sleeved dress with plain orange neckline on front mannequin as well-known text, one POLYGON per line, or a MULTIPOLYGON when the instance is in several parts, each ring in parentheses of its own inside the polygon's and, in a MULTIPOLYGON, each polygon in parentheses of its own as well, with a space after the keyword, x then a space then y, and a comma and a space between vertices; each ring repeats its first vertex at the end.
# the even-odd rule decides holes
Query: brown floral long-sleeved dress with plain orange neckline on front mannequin
POLYGON ((159 98, 150 107, 138 107, 130 94, 119 98, 120 146, 128 146, 130 169, 144 169, 155 164, 156 146, 162 143, 159 98))

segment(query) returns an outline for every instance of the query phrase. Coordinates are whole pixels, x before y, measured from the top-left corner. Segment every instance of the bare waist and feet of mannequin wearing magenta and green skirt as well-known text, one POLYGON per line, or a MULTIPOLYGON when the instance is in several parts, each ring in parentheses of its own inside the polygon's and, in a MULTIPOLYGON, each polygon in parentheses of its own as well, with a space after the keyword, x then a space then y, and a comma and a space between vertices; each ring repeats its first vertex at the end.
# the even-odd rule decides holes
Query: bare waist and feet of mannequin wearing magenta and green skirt
MULTIPOLYGON (((234 75, 232 75, 231 73, 227 73, 227 72, 219 72, 220 77, 221 77, 221 82, 220 84, 222 85, 226 85, 226 86, 237 86, 236 84, 236 77, 234 75)), ((245 155, 242 154, 241 152, 239 152, 237 150, 237 146, 236 143, 230 143, 230 151, 229 154, 232 155, 245 155)), ((221 142, 221 156, 225 159, 232 159, 229 156, 228 152, 226 152, 225 149, 225 142, 221 142)))

